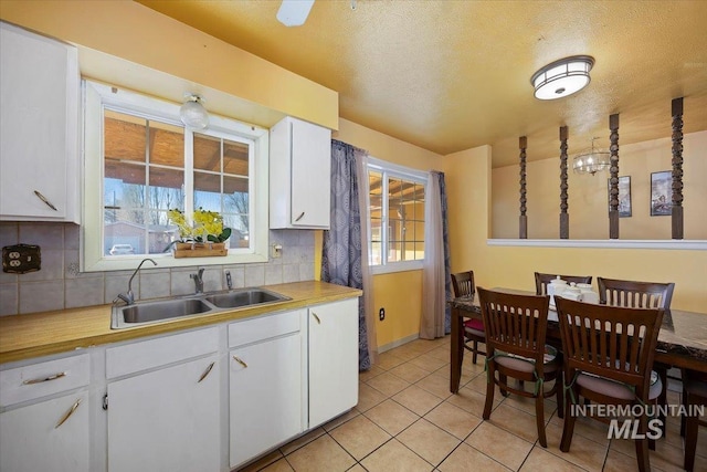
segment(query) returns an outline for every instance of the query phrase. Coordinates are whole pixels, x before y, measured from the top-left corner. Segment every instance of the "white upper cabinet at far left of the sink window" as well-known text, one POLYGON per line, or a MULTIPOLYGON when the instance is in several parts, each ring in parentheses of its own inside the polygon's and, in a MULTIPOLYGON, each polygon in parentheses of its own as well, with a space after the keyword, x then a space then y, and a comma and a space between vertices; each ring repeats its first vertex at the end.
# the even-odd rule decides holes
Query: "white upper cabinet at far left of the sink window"
POLYGON ((0 22, 0 220, 78 222, 76 49, 0 22))

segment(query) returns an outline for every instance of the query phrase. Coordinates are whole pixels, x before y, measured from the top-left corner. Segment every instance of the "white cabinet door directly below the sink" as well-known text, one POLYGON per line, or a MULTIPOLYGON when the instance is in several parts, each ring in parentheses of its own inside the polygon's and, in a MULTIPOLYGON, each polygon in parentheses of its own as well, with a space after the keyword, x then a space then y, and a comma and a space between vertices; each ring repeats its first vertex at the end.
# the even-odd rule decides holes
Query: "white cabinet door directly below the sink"
POLYGON ((110 472, 219 471, 217 359, 213 355, 108 384, 110 472))

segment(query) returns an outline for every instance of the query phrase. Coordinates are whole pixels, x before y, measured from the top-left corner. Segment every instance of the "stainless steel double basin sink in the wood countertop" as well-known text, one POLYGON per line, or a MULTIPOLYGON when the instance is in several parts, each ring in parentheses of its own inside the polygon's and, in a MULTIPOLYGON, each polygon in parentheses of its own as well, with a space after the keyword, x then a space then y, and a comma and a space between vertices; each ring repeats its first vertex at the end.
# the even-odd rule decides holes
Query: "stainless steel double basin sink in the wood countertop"
POLYGON ((246 308, 253 305, 292 300, 264 289, 241 289, 204 293, 179 298, 160 298, 136 302, 131 305, 113 306, 110 328, 123 329, 156 324, 182 316, 246 308))

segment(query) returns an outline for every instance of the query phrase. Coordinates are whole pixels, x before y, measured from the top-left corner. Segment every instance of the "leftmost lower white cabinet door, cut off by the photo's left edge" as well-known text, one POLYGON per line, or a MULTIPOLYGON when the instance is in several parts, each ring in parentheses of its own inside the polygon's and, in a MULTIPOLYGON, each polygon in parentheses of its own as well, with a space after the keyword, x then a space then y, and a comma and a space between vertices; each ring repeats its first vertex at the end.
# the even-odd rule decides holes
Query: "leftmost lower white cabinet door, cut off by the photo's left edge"
POLYGON ((88 426, 86 391, 0 413, 0 471, 88 472, 88 426))

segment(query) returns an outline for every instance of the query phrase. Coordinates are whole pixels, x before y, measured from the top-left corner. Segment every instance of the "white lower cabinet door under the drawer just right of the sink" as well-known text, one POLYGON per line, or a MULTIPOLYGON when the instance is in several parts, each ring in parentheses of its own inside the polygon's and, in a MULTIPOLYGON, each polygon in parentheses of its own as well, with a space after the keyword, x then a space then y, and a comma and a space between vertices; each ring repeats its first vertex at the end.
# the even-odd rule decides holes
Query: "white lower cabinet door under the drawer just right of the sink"
POLYGON ((231 350, 231 468, 303 431, 299 333, 231 350))

